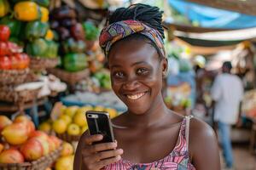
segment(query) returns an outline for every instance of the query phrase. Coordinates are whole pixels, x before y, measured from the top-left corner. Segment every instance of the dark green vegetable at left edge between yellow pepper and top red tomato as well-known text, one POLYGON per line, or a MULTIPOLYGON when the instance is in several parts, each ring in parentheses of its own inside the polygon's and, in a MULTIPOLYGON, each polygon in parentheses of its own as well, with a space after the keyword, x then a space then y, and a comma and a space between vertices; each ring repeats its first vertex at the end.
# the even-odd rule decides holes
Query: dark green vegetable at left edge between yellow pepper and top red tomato
POLYGON ((0 20, 0 24, 9 26, 11 37, 19 36, 22 24, 20 20, 12 19, 10 16, 5 16, 0 20))

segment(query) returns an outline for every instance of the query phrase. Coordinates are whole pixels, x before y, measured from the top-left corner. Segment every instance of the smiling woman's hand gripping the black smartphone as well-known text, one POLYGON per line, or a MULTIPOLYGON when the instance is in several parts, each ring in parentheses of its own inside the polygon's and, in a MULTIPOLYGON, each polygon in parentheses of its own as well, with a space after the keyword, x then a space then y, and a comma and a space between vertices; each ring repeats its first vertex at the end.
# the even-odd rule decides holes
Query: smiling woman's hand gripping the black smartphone
POLYGON ((92 144, 102 139, 101 134, 85 136, 82 160, 86 170, 98 170, 121 159, 123 150, 116 149, 117 142, 92 144))

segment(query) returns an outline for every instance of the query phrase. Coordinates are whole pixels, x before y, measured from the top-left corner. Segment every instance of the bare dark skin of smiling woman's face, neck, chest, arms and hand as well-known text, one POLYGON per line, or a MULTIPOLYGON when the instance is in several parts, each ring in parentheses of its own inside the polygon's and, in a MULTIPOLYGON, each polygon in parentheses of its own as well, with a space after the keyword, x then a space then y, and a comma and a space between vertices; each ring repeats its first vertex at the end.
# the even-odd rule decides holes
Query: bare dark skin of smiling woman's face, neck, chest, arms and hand
MULTIPOLYGON (((108 144, 91 145, 102 136, 84 133, 75 155, 75 170, 100 169, 121 158, 133 163, 157 161, 177 144, 183 116, 170 111, 162 98, 166 59, 160 59, 148 42, 131 40, 113 45, 108 64, 113 91, 128 107, 112 122, 125 128, 114 127, 117 142, 108 144)), ((215 133, 195 118, 189 127, 189 156, 196 169, 220 169, 215 133)))

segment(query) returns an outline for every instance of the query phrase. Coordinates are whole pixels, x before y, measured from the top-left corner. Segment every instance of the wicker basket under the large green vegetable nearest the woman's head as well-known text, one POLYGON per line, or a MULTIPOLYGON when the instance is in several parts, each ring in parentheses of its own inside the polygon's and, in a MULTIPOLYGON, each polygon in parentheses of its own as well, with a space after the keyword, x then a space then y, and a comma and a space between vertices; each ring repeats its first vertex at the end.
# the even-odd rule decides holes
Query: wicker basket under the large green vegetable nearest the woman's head
POLYGON ((90 76, 89 69, 85 69, 84 71, 78 71, 78 72, 68 72, 58 68, 52 68, 52 69, 48 69, 47 71, 50 74, 55 75, 55 77, 59 77, 61 81, 67 82, 70 85, 75 85, 77 82, 90 76))

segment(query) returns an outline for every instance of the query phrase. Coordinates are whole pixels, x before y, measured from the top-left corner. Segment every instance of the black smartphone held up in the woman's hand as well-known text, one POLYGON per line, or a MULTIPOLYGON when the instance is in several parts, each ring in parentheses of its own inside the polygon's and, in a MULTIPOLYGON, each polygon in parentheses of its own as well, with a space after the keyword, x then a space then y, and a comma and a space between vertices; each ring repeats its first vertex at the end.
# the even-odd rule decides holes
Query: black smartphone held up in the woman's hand
POLYGON ((86 111, 85 115, 90 135, 103 135, 103 139, 101 141, 95 142, 94 144, 114 142, 113 128, 108 112, 86 111))

